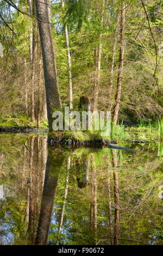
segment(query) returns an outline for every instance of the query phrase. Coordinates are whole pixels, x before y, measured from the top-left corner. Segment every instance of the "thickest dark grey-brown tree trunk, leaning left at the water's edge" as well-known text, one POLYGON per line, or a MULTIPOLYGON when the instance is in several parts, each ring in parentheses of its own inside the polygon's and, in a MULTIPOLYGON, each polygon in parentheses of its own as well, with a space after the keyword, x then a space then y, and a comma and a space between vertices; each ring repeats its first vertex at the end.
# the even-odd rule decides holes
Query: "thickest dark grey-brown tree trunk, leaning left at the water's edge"
POLYGON ((37 19, 39 19, 39 33, 42 48, 43 71, 45 77, 47 116, 49 130, 52 130, 52 111, 61 109, 57 67, 53 49, 51 26, 49 23, 48 1, 36 1, 37 19))

